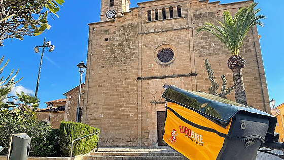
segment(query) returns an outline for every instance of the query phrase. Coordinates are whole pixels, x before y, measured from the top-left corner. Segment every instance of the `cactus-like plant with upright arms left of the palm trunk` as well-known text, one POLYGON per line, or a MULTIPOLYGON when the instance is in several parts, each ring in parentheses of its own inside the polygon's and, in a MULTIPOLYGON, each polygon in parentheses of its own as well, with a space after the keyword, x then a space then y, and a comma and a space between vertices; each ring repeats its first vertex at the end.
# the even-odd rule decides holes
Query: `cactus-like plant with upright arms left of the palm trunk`
POLYGON ((227 99, 227 95, 231 94, 231 92, 233 91, 234 87, 232 86, 231 88, 227 88, 227 79, 225 78, 225 75, 220 76, 223 84, 221 87, 221 93, 218 94, 218 89, 219 89, 219 85, 218 83, 215 81, 216 77, 213 76, 214 72, 211 69, 211 65, 208 62, 208 59, 205 59, 205 67, 206 67, 206 71, 208 73, 208 79, 211 82, 211 87, 208 89, 210 94, 213 95, 218 95, 221 98, 227 99), (226 89, 227 88, 227 89, 226 89))

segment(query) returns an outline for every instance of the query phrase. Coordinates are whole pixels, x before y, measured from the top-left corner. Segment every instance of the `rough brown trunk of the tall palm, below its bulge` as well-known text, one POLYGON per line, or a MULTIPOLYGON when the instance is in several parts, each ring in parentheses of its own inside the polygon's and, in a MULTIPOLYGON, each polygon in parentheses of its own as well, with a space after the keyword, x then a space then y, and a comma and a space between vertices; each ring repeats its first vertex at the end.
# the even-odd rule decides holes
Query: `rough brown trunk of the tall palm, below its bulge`
POLYGON ((235 86, 236 102, 247 106, 243 77, 242 77, 242 67, 240 66, 232 67, 232 71, 233 71, 233 79, 235 86))

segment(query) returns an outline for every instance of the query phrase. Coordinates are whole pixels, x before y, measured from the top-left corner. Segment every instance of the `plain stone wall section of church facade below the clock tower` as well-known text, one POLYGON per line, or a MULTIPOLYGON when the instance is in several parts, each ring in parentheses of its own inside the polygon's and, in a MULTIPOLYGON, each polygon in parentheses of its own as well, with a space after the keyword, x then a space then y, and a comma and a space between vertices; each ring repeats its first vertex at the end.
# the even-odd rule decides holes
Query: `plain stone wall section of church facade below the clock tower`
POLYGON ((90 24, 82 122, 99 127, 102 145, 137 145, 136 20, 137 10, 90 24))

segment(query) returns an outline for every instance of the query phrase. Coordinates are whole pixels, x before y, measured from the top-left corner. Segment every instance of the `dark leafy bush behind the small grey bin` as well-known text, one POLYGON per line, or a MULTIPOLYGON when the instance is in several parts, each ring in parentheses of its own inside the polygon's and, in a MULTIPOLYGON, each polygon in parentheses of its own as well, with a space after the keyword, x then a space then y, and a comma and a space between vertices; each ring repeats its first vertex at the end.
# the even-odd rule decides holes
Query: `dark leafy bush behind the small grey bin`
POLYGON ((11 135, 16 133, 26 133, 31 138, 30 155, 58 154, 58 142, 56 145, 53 136, 55 132, 59 135, 58 131, 52 131, 50 124, 39 121, 32 113, 0 112, 0 146, 4 147, 1 154, 7 154, 11 135), (51 139, 54 140, 50 141, 51 139))

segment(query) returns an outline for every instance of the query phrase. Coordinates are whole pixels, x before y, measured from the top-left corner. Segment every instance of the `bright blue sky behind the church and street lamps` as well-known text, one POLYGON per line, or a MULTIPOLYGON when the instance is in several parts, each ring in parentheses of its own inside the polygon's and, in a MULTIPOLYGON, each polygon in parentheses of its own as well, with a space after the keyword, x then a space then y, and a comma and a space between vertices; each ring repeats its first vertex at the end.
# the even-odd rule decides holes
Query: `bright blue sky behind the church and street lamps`
MULTIPOLYGON (((130 0, 130 7, 137 7, 137 0, 130 0)), ((214 2, 214 1, 210 1, 214 2)), ((221 0, 221 3, 235 1, 221 0)), ((267 16, 263 20, 264 27, 258 27, 261 35, 260 43, 263 63, 266 73, 267 86, 270 100, 276 101, 276 106, 284 103, 284 72, 282 51, 284 31, 279 29, 284 26, 282 10, 284 1, 271 3, 260 2, 261 14, 267 16), (278 29, 277 29, 278 28, 278 29)), ((0 47, 0 55, 10 59, 8 66, 1 76, 8 75, 12 69, 20 69, 18 78, 23 79, 16 85, 15 91, 24 90, 34 93, 40 63, 40 53, 34 53, 33 47, 42 45, 46 37, 55 49, 53 52, 45 52, 38 97, 41 100, 41 108, 46 107, 44 102, 65 98, 63 93, 79 85, 80 74, 77 64, 81 61, 86 63, 88 47, 88 23, 99 21, 100 1, 84 0, 80 3, 66 1, 58 12, 59 19, 49 19, 50 30, 37 37, 24 37, 23 41, 13 39, 6 40, 4 47, 0 47)), ((46 49, 48 50, 48 49, 46 49)), ((229 57, 229 54, 228 54, 229 57)), ((83 82, 85 76, 83 77, 83 82)))

